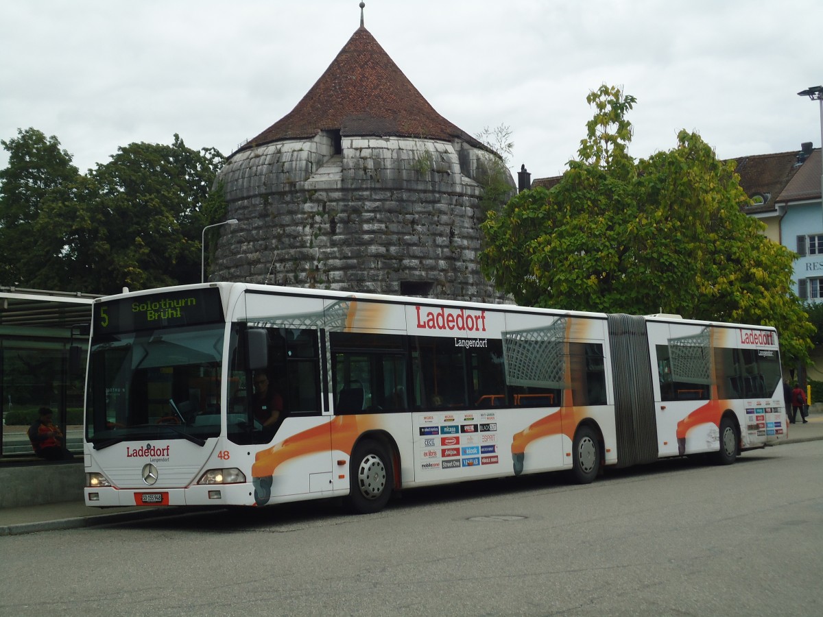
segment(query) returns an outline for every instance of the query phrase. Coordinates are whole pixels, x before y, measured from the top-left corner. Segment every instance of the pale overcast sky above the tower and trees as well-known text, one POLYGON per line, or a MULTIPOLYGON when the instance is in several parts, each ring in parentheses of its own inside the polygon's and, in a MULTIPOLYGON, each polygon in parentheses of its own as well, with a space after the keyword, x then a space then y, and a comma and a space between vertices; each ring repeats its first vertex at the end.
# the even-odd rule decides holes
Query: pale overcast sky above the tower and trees
MULTIPOLYGON (((2 0, 0 139, 58 137, 85 172, 133 141, 224 155, 282 118, 360 26, 359 0, 2 0)), ((630 153, 681 128, 721 158, 821 145, 821 0, 366 0, 365 27, 513 171, 558 175, 602 83, 638 102, 630 153)), ((0 151, 0 168, 8 162, 0 151)))

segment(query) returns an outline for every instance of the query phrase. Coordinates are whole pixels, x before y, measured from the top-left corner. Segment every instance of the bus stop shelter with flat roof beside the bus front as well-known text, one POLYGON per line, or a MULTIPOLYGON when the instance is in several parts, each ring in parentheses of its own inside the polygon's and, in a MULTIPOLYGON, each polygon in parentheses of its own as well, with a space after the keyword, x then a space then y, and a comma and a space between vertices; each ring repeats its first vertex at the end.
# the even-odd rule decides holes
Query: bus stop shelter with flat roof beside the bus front
POLYGON ((0 286, 0 460, 33 456, 26 429, 53 411, 72 452, 82 452, 82 406, 91 304, 97 295, 0 286), (72 346, 81 350, 72 373, 72 346))

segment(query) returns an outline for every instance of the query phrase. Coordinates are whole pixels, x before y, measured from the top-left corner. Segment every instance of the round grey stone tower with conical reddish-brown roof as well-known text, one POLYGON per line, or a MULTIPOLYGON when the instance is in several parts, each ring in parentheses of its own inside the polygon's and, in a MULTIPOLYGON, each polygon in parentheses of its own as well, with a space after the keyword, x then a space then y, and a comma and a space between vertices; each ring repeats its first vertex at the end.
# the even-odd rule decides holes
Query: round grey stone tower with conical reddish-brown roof
POLYGON ((361 16, 295 109, 221 169, 239 224, 218 228, 209 280, 500 302, 477 260, 477 180, 496 156, 432 108, 361 16))

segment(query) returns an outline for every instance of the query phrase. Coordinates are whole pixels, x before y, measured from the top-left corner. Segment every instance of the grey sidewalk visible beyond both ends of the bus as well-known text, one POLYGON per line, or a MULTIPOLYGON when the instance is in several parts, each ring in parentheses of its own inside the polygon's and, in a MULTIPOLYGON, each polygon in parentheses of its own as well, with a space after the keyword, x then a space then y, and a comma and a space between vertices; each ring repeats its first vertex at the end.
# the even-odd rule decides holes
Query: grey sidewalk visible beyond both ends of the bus
MULTIPOLYGON (((823 440, 823 412, 813 407, 807 424, 801 424, 798 418, 796 424, 789 426, 788 439, 777 445, 816 440, 823 440)), ((202 508, 200 509, 202 511, 202 508)), ((22 508, 0 508, 0 536, 93 527, 149 517, 179 516, 191 511, 192 508, 184 507, 88 508, 81 501, 44 503, 22 508)))

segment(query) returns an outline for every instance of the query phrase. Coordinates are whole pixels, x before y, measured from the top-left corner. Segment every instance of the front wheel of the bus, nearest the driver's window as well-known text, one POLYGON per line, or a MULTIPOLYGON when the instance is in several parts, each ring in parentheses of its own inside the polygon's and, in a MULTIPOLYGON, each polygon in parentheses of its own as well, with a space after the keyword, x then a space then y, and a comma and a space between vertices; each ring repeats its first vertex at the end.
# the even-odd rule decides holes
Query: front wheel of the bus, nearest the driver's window
POLYGON ((348 506, 356 514, 379 512, 394 488, 392 457, 383 442, 365 439, 358 443, 349 462, 348 506))

